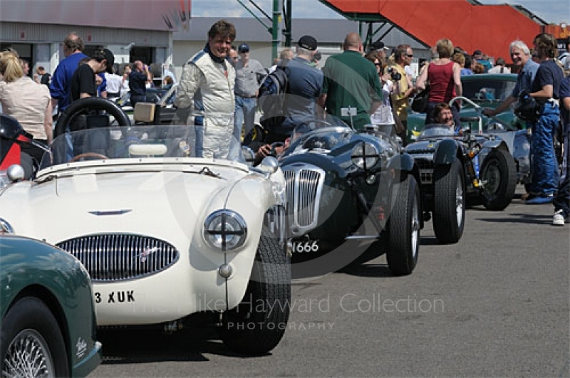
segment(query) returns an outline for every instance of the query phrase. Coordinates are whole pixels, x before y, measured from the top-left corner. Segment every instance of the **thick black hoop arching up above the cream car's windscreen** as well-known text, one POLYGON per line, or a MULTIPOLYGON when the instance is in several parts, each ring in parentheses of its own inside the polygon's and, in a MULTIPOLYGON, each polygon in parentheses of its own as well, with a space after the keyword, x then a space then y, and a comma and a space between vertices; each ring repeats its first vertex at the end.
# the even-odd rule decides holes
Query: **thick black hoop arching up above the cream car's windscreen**
POLYGON ((107 100, 106 98, 88 97, 73 101, 73 103, 61 113, 61 117, 59 117, 56 123, 56 128, 53 130, 53 137, 56 138, 65 133, 69 122, 73 120, 73 117, 83 112, 83 110, 105 110, 105 112, 115 117, 119 126, 130 126, 128 115, 126 115, 117 103, 113 103, 113 101, 107 100))

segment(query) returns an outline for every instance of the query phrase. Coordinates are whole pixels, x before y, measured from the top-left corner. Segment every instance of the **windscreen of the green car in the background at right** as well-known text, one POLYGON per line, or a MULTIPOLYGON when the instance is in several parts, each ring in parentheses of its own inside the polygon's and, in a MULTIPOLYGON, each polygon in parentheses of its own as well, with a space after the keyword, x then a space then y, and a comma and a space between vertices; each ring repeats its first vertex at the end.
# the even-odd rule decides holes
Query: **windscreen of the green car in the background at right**
POLYGON ((514 80, 499 80, 493 78, 475 78, 463 80, 463 95, 475 103, 502 103, 511 95, 517 84, 517 76, 512 75, 514 80))

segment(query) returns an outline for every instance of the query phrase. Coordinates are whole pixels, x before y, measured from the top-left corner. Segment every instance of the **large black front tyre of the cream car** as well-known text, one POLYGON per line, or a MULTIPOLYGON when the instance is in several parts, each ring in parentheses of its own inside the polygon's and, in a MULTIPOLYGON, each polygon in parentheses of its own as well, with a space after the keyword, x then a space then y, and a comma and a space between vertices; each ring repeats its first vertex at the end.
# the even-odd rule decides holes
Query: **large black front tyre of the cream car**
POLYGON ((287 327, 291 266, 279 241, 264 229, 242 303, 224 313, 219 336, 244 355, 264 355, 276 347, 287 327))

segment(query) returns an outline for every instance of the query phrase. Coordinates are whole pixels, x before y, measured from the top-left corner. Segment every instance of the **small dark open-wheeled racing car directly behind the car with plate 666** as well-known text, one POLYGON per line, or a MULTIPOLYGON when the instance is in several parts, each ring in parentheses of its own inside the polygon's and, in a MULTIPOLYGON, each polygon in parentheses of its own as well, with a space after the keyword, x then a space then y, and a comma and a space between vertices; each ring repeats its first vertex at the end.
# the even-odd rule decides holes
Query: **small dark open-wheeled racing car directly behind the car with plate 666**
POLYGON ((517 169, 497 135, 475 135, 467 128, 461 136, 445 125, 427 125, 405 152, 420 167, 426 217, 432 216, 440 243, 460 240, 467 205, 502 210, 514 196, 517 169))

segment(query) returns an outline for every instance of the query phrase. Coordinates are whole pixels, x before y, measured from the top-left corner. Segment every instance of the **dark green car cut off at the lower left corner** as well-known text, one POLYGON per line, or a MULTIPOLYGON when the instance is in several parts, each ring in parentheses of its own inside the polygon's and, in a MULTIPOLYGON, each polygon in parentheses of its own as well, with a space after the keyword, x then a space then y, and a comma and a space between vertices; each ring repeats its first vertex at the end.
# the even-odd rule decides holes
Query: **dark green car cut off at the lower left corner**
POLYGON ((2 377, 85 377, 101 362, 90 278, 59 248, 0 219, 2 377))

